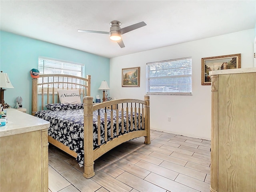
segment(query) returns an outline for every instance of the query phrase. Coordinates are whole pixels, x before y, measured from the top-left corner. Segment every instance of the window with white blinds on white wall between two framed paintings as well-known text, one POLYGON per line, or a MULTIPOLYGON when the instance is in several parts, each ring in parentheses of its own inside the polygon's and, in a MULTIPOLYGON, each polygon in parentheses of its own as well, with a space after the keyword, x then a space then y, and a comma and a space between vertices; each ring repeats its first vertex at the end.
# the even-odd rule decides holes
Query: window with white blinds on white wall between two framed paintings
POLYGON ((147 94, 192 94, 192 58, 147 63, 147 94))

